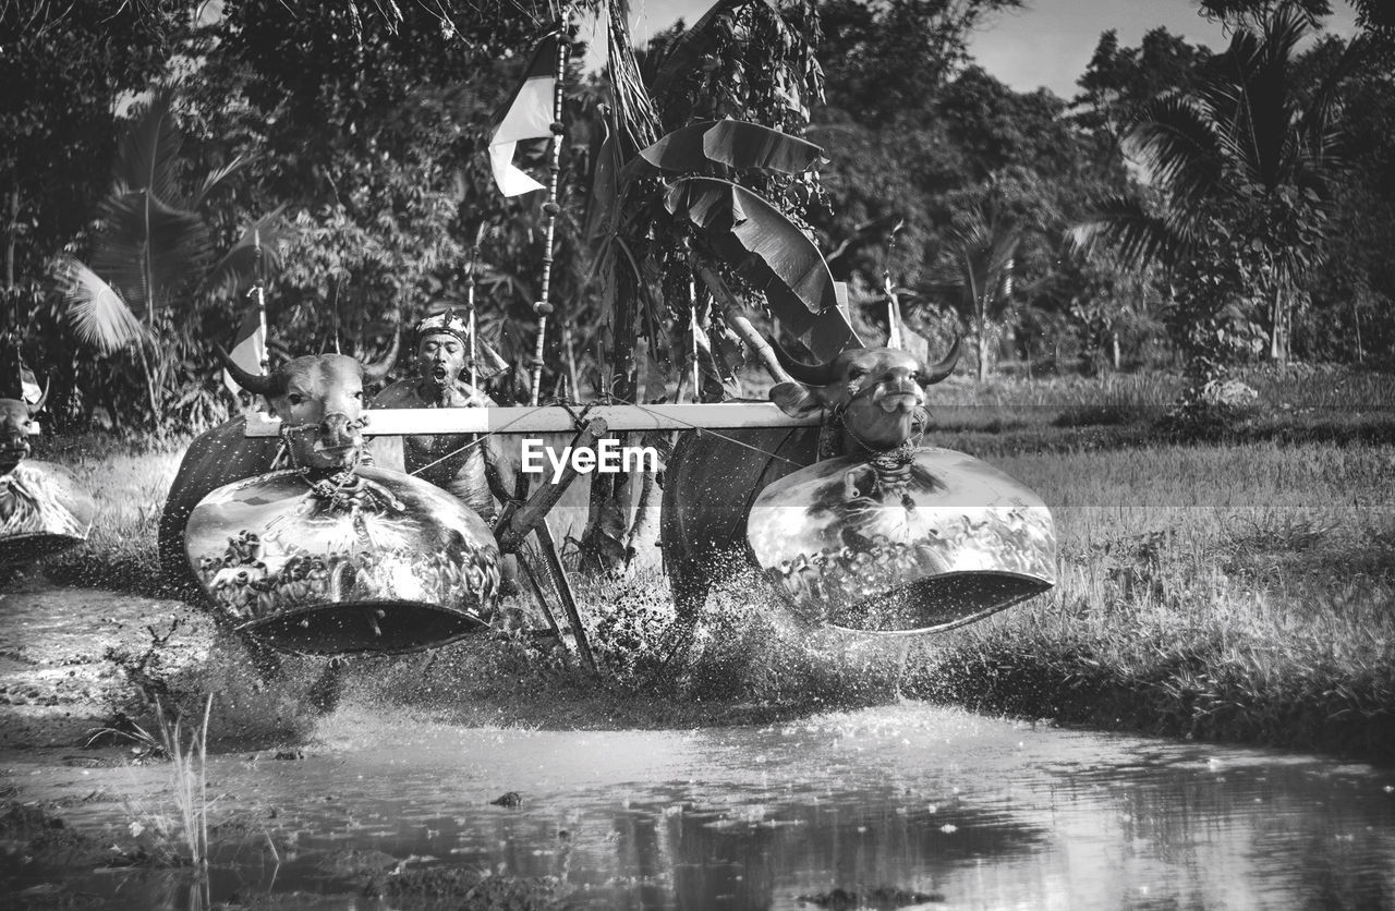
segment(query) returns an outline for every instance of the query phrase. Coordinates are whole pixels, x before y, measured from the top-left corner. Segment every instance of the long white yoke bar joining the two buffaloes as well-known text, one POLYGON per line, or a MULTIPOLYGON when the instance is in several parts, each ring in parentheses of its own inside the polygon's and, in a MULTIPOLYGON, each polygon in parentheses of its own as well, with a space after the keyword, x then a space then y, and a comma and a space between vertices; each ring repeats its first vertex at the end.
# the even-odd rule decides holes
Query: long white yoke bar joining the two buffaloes
MULTIPOLYGON (((559 434, 578 430, 576 416, 559 406, 370 409, 367 437, 410 434, 559 434)), ((737 430, 742 427, 817 427, 820 416, 790 417, 770 402, 718 405, 597 405, 583 420, 600 417, 611 431, 737 430)), ((262 412, 247 416, 247 437, 276 437, 280 421, 262 412)))

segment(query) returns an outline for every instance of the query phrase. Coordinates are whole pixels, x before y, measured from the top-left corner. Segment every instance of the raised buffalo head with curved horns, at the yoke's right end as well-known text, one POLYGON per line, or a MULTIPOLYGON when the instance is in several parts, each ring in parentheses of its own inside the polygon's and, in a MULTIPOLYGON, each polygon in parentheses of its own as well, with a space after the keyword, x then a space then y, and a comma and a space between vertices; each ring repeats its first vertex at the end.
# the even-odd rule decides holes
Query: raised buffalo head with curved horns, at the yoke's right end
POLYGON ((795 382, 781 382, 770 399, 787 414, 804 417, 819 409, 841 414, 843 452, 886 451, 925 431, 925 386, 950 375, 960 340, 944 360, 926 367, 898 347, 855 347, 824 364, 805 364, 774 346, 780 364, 795 382))

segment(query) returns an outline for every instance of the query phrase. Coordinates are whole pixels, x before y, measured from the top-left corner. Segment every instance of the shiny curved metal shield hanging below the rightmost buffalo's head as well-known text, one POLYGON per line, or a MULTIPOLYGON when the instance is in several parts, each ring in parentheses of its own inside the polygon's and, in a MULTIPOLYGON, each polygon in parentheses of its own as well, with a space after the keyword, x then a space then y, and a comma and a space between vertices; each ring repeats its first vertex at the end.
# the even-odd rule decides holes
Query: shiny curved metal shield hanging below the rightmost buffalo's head
POLYGON ((746 540, 801 614, 862 632, 951 629, 1056 583, 1041 498, 950 449, 788 474, 756 498, 746 540))

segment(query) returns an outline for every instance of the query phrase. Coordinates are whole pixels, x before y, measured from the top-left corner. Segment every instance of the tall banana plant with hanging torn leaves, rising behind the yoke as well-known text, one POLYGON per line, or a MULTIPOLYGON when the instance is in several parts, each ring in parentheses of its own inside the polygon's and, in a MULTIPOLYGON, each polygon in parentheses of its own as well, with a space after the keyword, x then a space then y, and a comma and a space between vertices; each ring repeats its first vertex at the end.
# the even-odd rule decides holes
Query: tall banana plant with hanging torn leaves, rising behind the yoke
MULTIPOLYGON (((812 184, 801 176, 819 162, 822 149, 753 123, 797 127, 798 112, 787 99, 801 92, 792 86, 806 88, 808 81, 817 88, 813 39, 801 31, 817 21, 812 7, 798 0, 718 0, 667 53, 650 56, 647 80, 629 46, 628 3, 614 0, 608 8, 612 105, 601 114, 605 140, 591 156, 585 219, 611 335, 614 377, 604 391, 622 400, 635 395, 640 339, 647 339, 646 359, 657 353, 660 363, 650 367, 668 377, 689 356, 698 363, 706 359, 704 372, 734 375, 739 364, 718 364, 725 359, 717 353, 739 350, 734 336, 723 336, 723 324, 727 332, 757 339, 742 304, 727 292, 723 271, 762 294, 770 314, 801 333, 816 354, 831 357, 855 339, 837 306, 838 286, 810 237, 762 195, 781 188, 802 191, 808 199, 812 184), (785 7, 792 18, 784 18, 785 7), (695 276, 721 303, 721 319, 706 328, 691 290, 695 276), (682 345, 688 332, 691 343, 682 345), (658 343, 665 338, 668 345, 658 343)), ((703 384, 702 398, 720 396, 721 378, 703 384)), ((587 562, 615 566, 622 559, 628 483, 593 481, 591 520, 582 541, 587 562), (615 488, 605 490, 607 483, 615 488)))

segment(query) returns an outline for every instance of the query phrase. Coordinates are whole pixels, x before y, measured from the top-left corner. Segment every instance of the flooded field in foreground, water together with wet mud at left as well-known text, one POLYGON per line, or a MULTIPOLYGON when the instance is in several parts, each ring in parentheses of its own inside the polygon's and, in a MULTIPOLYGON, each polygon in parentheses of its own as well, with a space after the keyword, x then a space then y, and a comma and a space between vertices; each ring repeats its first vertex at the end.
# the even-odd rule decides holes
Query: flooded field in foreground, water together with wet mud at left
POLYGON ((78 745, 102 643, 180 619, 197 663, 208 631, 71 597, 4 604, 6 907, 1395 908, 1392 769, 914 702, 568 731, 359 688, 299 745, 208 758, 197 876, 151 864, 179 847, 170 763, 78 745))

